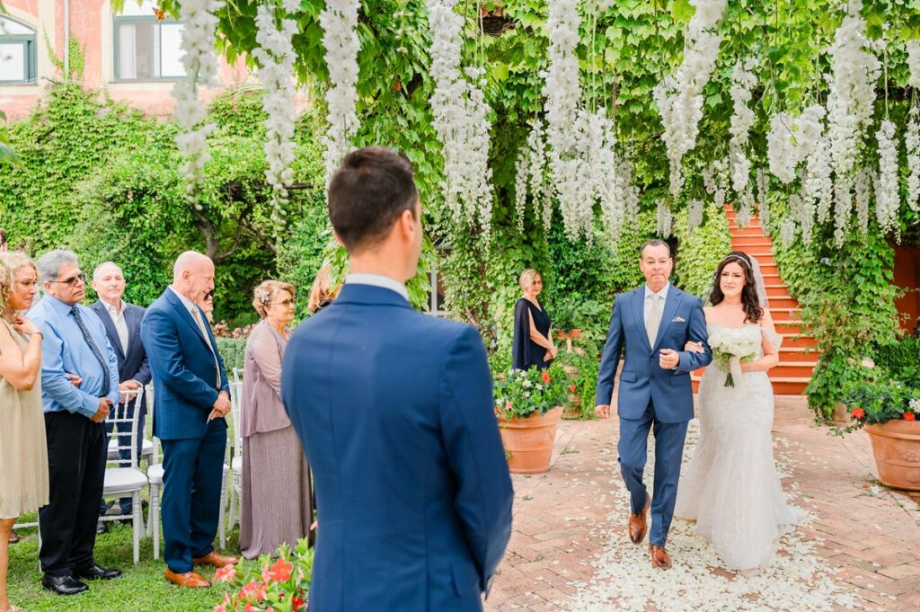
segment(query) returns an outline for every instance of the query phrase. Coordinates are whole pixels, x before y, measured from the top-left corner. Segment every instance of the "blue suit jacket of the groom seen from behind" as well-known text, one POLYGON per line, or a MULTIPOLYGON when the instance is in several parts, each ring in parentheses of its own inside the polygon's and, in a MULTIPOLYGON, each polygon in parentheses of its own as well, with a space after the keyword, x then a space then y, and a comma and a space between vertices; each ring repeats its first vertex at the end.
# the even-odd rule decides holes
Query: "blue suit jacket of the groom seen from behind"
POLYGON ((481 610, 512 483, 476 329, 346 284, 293 333, 282 399, 316 483, 310 609, 481 610))

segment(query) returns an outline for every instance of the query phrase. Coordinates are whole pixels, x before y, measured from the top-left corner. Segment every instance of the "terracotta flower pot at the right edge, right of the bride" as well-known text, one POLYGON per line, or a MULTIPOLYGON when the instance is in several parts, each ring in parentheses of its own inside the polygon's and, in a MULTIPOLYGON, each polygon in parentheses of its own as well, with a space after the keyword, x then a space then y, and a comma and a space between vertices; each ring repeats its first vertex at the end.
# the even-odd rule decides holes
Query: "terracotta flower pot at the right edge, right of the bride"
POLYGON ((920 491, 920 422, 866 425, 879 479, 889 487, 920 491))

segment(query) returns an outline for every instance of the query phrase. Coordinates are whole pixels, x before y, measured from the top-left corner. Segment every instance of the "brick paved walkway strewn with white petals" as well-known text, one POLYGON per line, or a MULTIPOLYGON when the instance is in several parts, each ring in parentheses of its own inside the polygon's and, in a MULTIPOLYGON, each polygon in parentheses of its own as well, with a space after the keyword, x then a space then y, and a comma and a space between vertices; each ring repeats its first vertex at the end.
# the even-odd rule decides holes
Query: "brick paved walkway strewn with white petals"
POLYGON ((617 435, 615 419, 563 421, 552 469, 514 477, 512 541, 487 610, 920 610, 920 508, 876 485, 865 433, 828 435, 804 398, 776 398, 777 464, 811 520, 753 578, 719 570, 677 520, 669 548, 690 559, 675 554, 671 572, 651 570, 647 548, 627 542, 617 435), (627 581, 628 596, 609 599, 627 581))

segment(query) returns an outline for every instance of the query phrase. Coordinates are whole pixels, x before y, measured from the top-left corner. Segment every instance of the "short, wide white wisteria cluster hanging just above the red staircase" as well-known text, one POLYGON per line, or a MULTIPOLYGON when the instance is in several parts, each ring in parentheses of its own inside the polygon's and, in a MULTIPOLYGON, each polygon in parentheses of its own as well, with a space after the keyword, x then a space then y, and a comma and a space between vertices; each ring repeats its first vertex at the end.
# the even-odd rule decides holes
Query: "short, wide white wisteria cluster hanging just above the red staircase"
POLYGON ((797 118, 778 112, 770 120, 766 135, 770 172, 788 184, 796 178, 796 167, 814 149, 822 136, 824 107, 813 105, 797 118))

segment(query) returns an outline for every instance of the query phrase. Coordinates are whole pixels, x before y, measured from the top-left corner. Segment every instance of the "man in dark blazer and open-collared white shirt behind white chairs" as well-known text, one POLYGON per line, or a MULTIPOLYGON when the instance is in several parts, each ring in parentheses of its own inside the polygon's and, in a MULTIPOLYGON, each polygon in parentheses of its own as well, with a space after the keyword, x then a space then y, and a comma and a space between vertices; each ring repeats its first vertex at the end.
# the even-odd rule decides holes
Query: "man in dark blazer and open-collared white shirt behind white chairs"
MULTIPOLYGON (((93 271, 93 291, 99 296, 98 302, 89 306, 95 312, 106 328, 109 344, 115 350, 118 358, 119 390, 137 391, 150 382, 150 364, 147 362, 147 353, 141 341, 141 321, 144 319, 144 308, 128 304, 121 299, 127 286, 121 268, 112 261, 106 261, 96 266, 93 271)), ((130 399, 130 398, 129 398, 130 399)), ((135 409, 134 402, 128 403, 128 411, 120 416, 131 418, 135 409)), ((116 410, 113 408, 113 410, 116 410)), ((141 413, 137 418, 137 456, 140 458, 144 443, 144 425, 147 416, 147 398, 141 398, 141 413)), ((113 425, 121 433, 119 436, 119 456, 122 461, 131 459, 130 445, 131 430, 126 423, 115 425, 111 421, 106 423, 109 434, 113 425)), ((126 465, 126 464, 125 464, 126 465)), ((122 497, 119 502, 121 514, 132 514, 132 498, 122 497)), ((99 507, 99 514, 105 514, 106 504, 103 501, 99 507)), ((104 524, 101 524, 104 525, 104 524)))

